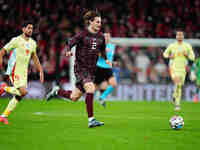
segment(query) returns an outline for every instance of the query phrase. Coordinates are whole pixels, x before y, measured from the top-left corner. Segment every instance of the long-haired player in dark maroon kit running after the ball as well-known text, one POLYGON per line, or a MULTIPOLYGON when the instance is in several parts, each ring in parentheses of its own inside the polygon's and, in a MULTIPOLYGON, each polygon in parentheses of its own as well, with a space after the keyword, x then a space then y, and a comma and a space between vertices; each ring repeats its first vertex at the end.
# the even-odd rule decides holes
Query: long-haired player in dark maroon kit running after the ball
POLYGON ((58 95, 72 101, 77 101, 83 93, 86 93, 86 108, 88 112, 88 127, 104 125, 93 116, 93 96, 95 92, 95 72, 99 53, 112 65, 106 57, 105 38, 101 29, 101 16, 97 11, 88 11, 83 17, 87 28, 80 34, 75 35, 67 45, 66 56, 72 56, 71 48, 76 45, 74 73, 76 77, 76 87, 73 91, 65 91, 55 87, 47 94, 47 100, 58 95))

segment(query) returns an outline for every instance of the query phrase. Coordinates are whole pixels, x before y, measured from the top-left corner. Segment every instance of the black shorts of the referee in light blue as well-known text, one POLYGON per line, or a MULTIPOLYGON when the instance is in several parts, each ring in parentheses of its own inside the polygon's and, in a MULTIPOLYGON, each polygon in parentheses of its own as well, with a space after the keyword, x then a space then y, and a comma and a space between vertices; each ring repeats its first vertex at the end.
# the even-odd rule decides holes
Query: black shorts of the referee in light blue
POLYGON ((112 69, 97 67, 94 83, 99 85, 103 81, 108 81, 112 76, 112 69))

